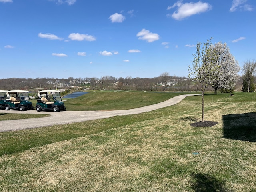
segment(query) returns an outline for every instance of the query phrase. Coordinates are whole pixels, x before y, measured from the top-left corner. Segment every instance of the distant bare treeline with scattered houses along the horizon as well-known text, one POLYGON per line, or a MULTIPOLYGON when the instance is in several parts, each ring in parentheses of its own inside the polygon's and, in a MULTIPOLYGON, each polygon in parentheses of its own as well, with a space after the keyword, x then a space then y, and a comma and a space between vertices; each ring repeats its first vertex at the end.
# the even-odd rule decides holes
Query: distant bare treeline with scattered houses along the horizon
MULTIPOLYGON (((235 90, 240 89, 242 80, 237 82, 235 90)), ((198 91, 198 85, 187 77, 162 76, 154 78, 5 78, 0 79, 0 90, 32 89, 70 89, 70 90, 136 90, 136 91, 198 91), (165 86, 164 86, 165 84, 165 86)), ((208 90, 213 90, 209 87, 208 90)))

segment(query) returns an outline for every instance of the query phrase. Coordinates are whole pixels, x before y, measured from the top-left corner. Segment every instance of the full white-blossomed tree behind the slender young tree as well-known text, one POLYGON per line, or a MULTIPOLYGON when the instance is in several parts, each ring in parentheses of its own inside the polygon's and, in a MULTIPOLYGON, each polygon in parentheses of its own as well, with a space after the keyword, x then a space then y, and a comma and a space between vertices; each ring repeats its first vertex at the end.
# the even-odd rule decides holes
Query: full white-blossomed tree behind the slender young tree
POLYGON ((212 87, 214 94, 217 94, 218 88, 231 89, 236 86, 236 82, 240 78, 238 72, 240 66, 230 53, 226 43, 218 42, 210 46, 210 50, 216 55, 216 70, 214 70, 214 78, 212 87))

